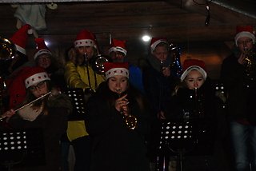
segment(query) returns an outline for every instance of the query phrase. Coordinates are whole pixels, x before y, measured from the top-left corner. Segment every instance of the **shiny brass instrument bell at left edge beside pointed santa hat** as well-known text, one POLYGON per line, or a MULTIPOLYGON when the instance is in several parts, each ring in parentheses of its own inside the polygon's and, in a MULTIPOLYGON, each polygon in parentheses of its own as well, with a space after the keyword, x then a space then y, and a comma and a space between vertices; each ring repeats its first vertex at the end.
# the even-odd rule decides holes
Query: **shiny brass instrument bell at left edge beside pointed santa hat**
POLYGON ((0 60, 14 58, 16 46, 7 38, 0 37, 0 60))

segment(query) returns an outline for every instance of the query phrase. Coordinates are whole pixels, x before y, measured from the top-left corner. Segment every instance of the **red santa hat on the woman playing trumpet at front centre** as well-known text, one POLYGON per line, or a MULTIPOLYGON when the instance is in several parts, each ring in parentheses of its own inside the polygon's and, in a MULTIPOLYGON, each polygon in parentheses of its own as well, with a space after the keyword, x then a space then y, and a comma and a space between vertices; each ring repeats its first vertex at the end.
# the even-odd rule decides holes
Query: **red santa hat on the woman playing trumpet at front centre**
POLYGON ((128 62, 105 62, 103 65, 106 79, 115 75, 122 75, 129 78, 128 62))

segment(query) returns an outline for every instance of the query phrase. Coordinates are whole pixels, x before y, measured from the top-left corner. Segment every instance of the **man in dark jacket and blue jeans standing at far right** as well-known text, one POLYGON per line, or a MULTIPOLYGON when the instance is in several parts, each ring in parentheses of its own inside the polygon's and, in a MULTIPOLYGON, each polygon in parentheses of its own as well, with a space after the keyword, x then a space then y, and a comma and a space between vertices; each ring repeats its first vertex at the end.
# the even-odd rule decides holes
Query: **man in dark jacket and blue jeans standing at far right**
POLYGON ((256 169, 256 55, 253 26, 237 26, 234 53, 222 62, 235 170, 256 169))

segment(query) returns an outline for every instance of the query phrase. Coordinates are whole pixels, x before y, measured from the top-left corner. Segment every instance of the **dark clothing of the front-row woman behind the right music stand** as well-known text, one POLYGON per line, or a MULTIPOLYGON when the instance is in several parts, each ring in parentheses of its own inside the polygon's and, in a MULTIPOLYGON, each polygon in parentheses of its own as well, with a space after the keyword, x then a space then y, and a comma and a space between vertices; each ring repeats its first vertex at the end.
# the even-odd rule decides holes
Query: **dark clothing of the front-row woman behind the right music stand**
MULTIPOLYGON (((196 154, 212 153, 214 130, 217 128, 216 101, 214 88, 209 78, 196 91, 182 87, 172 96, 171 103, 166 108, 166 121, 178 125, 187 122, 192 125, 191 132, 194 142, 186 144, 186 141, 182 141, 184 143, 182 148, 192 148, 191 153, 196 154)), ((171 143, 170 146, 172 146, 171 143)))

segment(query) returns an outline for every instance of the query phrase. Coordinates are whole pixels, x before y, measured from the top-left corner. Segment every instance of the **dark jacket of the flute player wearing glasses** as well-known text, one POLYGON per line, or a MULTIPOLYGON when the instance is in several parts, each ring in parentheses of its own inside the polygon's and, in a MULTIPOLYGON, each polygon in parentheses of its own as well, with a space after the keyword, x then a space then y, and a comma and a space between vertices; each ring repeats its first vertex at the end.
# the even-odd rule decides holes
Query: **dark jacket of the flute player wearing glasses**
MULTIPOLYGON (((46 163, 43 165, 17 165, 14 170, 57 171, 60 168, 59 141, 63 133, 66 133, 67 117, 72 106, 70 99, 64 94, 58 94, 47 101, 48 114, 38 115, 34 121, 23 120, 18 114, 10 118, 10 126, 13 129, 41 129, 44 144, 46 163)), ((31 162, 31 161, 26 161, 31 162)))

